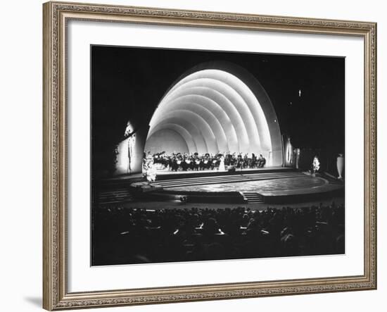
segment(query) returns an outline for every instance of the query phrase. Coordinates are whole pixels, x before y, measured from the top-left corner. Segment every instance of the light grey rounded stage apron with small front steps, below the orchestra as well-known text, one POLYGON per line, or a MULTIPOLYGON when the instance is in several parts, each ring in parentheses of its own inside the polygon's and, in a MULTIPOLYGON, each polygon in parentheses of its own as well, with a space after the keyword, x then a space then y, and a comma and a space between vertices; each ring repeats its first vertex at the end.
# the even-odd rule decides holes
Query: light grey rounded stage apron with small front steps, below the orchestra
POLYGON ((191 201, 304 201, 342 196, 344 184, 299 170, 246 170, 232 175, 167 175, 152 185, 159 194, 189 196, 191 201))

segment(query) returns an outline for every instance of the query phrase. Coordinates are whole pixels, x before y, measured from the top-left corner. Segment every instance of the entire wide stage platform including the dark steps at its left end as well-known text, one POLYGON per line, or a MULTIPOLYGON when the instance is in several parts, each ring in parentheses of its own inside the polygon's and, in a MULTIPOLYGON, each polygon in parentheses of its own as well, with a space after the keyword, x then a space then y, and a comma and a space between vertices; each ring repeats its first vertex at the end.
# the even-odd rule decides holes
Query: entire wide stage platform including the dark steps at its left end
POLYGON ((275 204, 343 197, 344 183, 326 175, 306 175, 293 168, 243 169, 234 172, 158 171, 148 185, 144 177, 127 175, 103 181, 99 202, 173 201, 192 203, 275 204), (144 187, 141 185, 144 184, 144 187))

